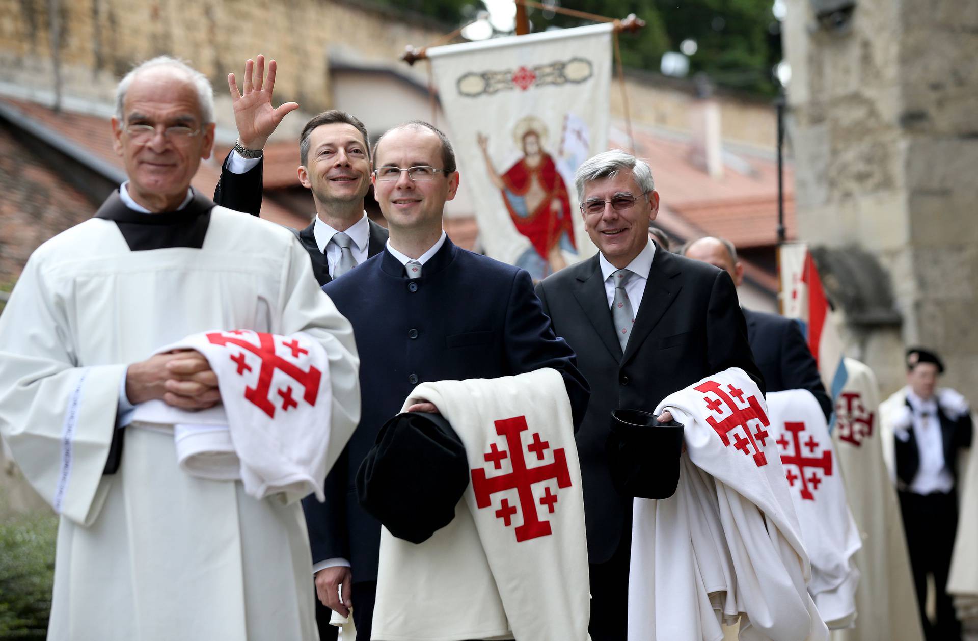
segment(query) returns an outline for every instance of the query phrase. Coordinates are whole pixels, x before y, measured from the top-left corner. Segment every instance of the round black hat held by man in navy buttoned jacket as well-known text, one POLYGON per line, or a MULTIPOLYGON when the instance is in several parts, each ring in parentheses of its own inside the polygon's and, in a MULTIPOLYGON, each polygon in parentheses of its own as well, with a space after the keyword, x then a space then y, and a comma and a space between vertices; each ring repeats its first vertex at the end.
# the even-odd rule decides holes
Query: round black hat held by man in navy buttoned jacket
POLYGON ((360 506, 412 543, 451 523, 467 485, 466 448, 440 414, 387 421, 357 471, 360 506))

